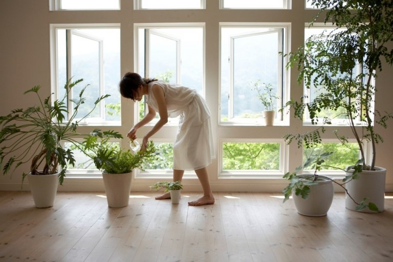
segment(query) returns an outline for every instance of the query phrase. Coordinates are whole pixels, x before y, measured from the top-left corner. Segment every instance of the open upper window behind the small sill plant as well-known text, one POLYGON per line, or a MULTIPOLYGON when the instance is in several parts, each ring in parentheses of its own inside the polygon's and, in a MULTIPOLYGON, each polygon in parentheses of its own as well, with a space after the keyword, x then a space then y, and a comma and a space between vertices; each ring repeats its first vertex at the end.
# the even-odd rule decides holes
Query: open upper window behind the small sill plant
POLYGON ((271 85, 279 97, 278 109, 285 94, 286 74, 283 69, 286 27, 222 26, 221 27, 221 122, 261 123, 264 111, 254 90, 257 82, 271 85))

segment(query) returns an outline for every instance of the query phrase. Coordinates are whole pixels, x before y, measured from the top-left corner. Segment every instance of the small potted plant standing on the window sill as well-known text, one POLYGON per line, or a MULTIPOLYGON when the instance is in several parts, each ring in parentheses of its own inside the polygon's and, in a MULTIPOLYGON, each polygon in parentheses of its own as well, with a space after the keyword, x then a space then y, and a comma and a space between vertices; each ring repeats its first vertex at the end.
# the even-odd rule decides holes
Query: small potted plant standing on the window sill
POLYGON ((274 92, 273 86, 270 83, 261 83, 258 79, 254 83, 254 90, 258 93, 258 99, 265 108, 263 116, 266 125, 273 125, 275 118, 275 105, 279 97, 274 92), (261 88, 260 88, 261 85, 261 88))

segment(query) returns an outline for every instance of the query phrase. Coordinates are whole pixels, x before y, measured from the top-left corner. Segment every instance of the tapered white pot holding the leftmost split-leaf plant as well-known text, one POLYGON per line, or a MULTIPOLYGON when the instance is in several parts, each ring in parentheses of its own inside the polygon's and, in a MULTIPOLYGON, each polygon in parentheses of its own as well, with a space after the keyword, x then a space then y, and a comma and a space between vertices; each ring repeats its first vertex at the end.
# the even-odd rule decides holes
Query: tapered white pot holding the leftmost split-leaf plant
POLYGON ((57 187, 59 185, 58 173, 33 175, 28 174, 27 180, 35 207, 52 207, 55 202, 57 187))

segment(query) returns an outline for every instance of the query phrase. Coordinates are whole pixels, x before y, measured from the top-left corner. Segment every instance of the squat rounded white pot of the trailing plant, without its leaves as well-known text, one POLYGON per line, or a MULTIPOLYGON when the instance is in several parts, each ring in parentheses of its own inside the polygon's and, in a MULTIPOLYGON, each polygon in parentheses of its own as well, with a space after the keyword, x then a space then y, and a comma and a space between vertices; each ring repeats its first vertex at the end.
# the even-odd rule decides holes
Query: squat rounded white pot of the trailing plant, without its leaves
POLYGON ((310 186, 308 199, 303 199, 300 195, 297 196, 295 192, 292 192, 292 198, 299 214, 324 216, 328 213, 334 197, 333 181, 319 178, 315 182, 318 184, 310 186))

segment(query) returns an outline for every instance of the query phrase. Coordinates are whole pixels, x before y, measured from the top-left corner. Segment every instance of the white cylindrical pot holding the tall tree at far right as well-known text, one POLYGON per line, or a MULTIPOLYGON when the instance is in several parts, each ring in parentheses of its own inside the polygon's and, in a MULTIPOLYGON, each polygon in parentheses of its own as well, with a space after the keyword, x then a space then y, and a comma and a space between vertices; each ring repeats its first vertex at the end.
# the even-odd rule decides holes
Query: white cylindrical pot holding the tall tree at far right
MULTIPOLYGON (((351 197, 356 201, 360 202, 364 198, 368 198, 368 202, 372 202, 377 205, 380 212, 385 208, 385 181, 386 181, 386 168, 375 167, 375 171, 363 170, 359 173, 359 178, 351 180, 345 184, 345 188, 351 197)), ((351 171, 353 169, 350 169, 351 171)), ((347 173, 347 175, 350 173, 347 173)), ((350 210, 356 211, 358 205, 352 201, 348 195, 345 197, 345 207, 350 210)), ((375 211, 369 210, 368 207, 361 210, 364 213, 375 213, 375 211)))

